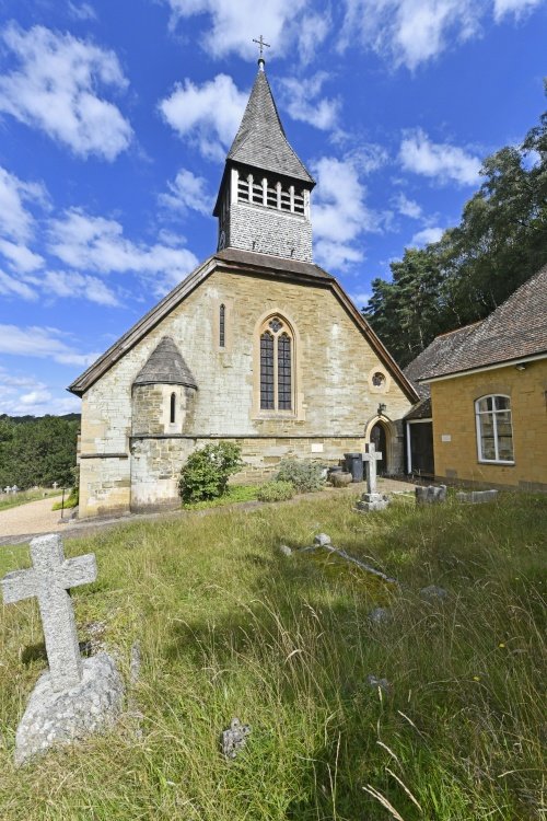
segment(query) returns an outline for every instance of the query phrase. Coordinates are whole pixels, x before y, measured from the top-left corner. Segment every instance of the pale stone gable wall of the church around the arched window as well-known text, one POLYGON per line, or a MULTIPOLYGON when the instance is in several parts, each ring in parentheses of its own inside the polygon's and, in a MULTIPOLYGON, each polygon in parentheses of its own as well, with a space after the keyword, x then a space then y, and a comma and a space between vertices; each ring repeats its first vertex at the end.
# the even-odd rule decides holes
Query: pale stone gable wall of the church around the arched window
MULTIPOLYGON (((217 270, 86 392, 82 403, 81 516, 173 500, 174 476, 189 452, 189 446, 176 439, 178 432, 190 437, 182 441, 190 442, 191 449, 211 436, 241 440, 249 475, 259 477, 276 459, 290 455, 291 449, 295 455, 317 455, 327 462, 360 450, 365 431, 377 419, 380 402, 386 405, 383 420, 393 431, 391 469, 401 470, 395 423, 407 413, 410 402, 392 377, 382 388, 374 388, 371 374, 376 370, 385 368, 353 319, 321 281, 300 285, 217 270), (221 303, 231 305, 223 349, 217 338, 221 303), (276 313, 294 331, 295 409, 282 415, 260 410, 255 366, 257 328, 276 313), (183 430, 163 426, 161 431, 162 425, 152 416, 139 429, 141 421, 133 419, 132 382, 165 335, 178 345, 198 390, 191 402, 185 400, 183 430), (133 447, 153 429, 160 429, 159 436, 172 433, 175 444, 133 447), (313 444, 322 443, 323 452, 312 451, 313 444), (400 464, 395 463, 398 459, 400 464), (147 464, 153 479, 148 478, 147 464)), ((164 414, 165 396, 173 388, 164 386, 163 405, 159 389, 147 388, 148 398, 146 393, 135 394, 139 416, 144 418, 152 410, 164 414)))

